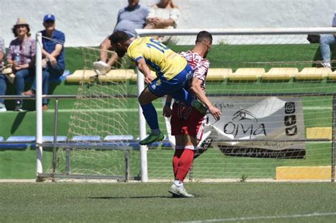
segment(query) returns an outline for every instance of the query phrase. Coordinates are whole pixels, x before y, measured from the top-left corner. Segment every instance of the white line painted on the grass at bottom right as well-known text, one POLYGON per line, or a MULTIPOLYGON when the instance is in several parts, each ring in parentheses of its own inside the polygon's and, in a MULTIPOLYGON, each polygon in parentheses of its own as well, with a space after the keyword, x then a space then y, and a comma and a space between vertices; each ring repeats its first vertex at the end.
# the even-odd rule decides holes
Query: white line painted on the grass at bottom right
POLYGON ((207 219, 207 220, 200 220, 200 221, 178 222, 178 223, 237 222, 237 221, 248 221, 248 220, 256 220, 256 219, 281 219, 281 218, 293 218, 293 217, 318 217, 318 216, 330 216, 330 215, 336 215, 336 212, 332 212, 332 213, 313 213, 313 214, 306 214, 306 215, 279 215, 279 216, 257 216, 257 217, 234 217, 234 218, 207 219))

